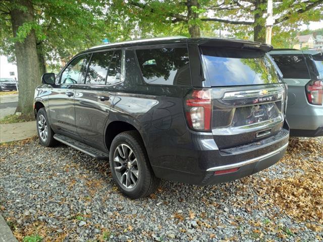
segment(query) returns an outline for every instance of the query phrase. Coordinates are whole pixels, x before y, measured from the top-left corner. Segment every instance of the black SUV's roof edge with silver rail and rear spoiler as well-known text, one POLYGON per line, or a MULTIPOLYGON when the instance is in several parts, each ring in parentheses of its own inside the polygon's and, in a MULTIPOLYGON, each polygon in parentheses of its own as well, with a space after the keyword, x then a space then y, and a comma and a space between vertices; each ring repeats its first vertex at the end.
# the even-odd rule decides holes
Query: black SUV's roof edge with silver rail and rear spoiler
POLYGON ((261 51, 270 51, 272 50, 273 46, 260 43, 260 42, 253 42, 248 40, 241 40, 241 39, 225 39, 225 38, 187 38, 185 36, 170 36, 170 37, 159 37, 159 38, 149 38, 149 39, 138 39, 138 40, 130 40, 130 41, 123 41, 123 42, 116 42, 116 43, 109 43, 109 44, 102 44, 98 46, 91 47, 82 52, 88 52, 90 50, 99 50, 105 48, 113 48, 113 47, 133 47, 133 46, 140 46, 140 45, 156 45, 156 44, 174 44, 174 43, 187 43, 187 42, 195 43, 198 45, 203 46, 228 46, 228 44, 232 47, 244 47, 244 48, 254 48, 259 49, 261 51))

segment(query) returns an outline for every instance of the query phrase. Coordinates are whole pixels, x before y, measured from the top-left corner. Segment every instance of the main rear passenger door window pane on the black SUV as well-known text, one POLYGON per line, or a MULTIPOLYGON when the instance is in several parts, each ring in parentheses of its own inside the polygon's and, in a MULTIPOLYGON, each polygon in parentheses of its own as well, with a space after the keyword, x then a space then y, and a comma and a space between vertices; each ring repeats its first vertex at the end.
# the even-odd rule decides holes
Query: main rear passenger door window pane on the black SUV
POLYGON ((113 51, 93 53, 87 71, 86 84, 105 84, 113 51))

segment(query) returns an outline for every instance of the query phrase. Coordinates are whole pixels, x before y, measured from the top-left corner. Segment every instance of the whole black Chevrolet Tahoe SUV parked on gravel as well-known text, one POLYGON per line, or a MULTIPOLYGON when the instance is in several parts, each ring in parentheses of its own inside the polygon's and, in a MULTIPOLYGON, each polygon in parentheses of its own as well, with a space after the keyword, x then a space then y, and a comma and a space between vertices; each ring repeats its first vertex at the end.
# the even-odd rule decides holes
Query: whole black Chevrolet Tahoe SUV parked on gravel
POLYGON ((160 178, 208 185, 278 162, 286 86, 267 52, 234 39, 169 37, 97 46, 35 91, 41 144, 110 160, 130 198, 160 178))

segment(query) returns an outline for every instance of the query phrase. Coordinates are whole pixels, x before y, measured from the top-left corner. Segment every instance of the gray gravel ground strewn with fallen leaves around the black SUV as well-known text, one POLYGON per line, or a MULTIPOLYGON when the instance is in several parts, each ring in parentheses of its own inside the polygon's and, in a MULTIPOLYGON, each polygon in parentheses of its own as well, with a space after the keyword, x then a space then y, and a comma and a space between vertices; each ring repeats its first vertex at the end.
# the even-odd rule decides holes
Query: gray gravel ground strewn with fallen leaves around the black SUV
POLYGON ((43 241, 322 241, 323 139, 292 139, 284 159, 207 187, 163 181, 130 200, 109 162, 37 139, 0 146, 0 209, 14 235, 43 241))

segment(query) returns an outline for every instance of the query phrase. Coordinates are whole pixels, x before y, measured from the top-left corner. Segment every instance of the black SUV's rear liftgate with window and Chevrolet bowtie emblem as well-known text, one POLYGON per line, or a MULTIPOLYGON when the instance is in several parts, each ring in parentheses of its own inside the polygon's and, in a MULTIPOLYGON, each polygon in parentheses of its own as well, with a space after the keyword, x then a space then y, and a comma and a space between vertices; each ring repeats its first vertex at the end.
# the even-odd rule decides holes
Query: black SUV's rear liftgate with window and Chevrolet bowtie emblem
POLYGON ((212 87, 213 138, 220 149, 283 132, 285 85, 264 51, 217 46, 200 50, 212 87))

